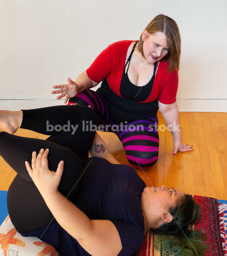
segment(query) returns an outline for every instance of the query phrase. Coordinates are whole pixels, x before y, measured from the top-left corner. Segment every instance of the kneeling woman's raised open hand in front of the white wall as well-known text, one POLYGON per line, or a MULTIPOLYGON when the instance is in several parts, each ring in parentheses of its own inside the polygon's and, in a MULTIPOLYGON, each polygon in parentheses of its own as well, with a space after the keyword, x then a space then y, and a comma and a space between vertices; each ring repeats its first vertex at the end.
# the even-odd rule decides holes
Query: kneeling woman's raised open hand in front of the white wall
POLYGON ((60 90, 54 90, 51 92, 52 94, 61 93, 56 99, 65 97, 64 104, 67 103, 68 99, 75 97, 78 94, 78 84, 72 81, 70 78, 68 78, 68 82, 69 84, 54 85, 54 89, 60 90))

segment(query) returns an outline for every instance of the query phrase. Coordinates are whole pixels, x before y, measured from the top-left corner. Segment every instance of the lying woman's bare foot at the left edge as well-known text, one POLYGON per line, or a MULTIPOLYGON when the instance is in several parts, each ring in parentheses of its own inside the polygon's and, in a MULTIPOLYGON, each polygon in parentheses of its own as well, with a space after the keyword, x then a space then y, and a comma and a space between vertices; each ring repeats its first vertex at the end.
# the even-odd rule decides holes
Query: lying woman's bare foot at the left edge
POLYGON ((14 134, 19 128, 17 119, 18 112, 20 111, 0 110, 0 129, 9 134, 14 134))

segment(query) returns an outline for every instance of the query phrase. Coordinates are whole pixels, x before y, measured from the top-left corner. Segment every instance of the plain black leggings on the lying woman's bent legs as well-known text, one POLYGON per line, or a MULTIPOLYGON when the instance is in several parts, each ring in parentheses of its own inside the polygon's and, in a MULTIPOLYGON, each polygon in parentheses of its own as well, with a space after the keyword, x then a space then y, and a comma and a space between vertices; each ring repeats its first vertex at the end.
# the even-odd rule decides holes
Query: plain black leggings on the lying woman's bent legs
MULTIPOLYGON (((31 165, 32 151, 49 148, 49 169, 57 170, 60 160, 64 160, 63 176, 58 187, 59 191, 68 196, 86 166, 83 166, 95 131, 83 131, 83 122, 92 121, 98 124, 98 116, 86 106, 55 106, 23 110, 23 121, 20 128, 29 129, 42 134, 51 135, 46 140, 19 137, 0 132, 0 155, 17 172, 11 183, 7 196, 7 206, 12 223, 20 232, 29 232, 44 227, 53 218, 40 192, 34 185, 25 167, 27 160, 31 165), (47 131, 53 125, 78 125, 77 130, 47 131)), ((70 193, 72 201, 79 182, 70 193)))

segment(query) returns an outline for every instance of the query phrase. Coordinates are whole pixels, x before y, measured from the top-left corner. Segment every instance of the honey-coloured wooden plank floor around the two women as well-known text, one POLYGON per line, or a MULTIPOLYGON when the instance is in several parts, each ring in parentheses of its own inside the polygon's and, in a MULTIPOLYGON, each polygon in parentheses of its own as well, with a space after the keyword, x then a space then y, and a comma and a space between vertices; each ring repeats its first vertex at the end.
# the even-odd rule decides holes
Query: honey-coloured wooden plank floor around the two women
MULTIPOLYGON (((165 124, 158 112, 159 125, 165 124)), ((173 154, 172 136, 160 131, 158 162, 143 172, 135 169, 147 186, 173 187, 181 192, 227 200, 227 113, 180 113, 183 143, 192 152, 173 154)), ((122 143, 113 133, 99 132, 115 158, 128 164, 122 143)), ((45 139, 48 136, 19 129, 16 135, 45 139)), ((0 157, 0 190, 8 190, 15 172, 0 157)))

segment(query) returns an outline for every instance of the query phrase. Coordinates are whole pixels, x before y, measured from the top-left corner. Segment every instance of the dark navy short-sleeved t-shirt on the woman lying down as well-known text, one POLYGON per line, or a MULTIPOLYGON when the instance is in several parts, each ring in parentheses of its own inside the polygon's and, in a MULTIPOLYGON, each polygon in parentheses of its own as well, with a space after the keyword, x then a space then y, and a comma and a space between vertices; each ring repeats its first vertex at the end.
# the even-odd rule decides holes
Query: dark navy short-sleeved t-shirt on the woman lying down
MULTIPOLYGON (((111 164, 100 157, 88 158, 83 169, 86 171, 73 203, 90 219, 112 221, 121 238, 122 250, 118 256, 134 255, 144 241, 141 194, 146 184, 131 166, 111 164)), ((43 234, 45 229, 21 234, 43 235, 41 240, 52 244, 60 255, 89 255, 56 221, 43 234)))

